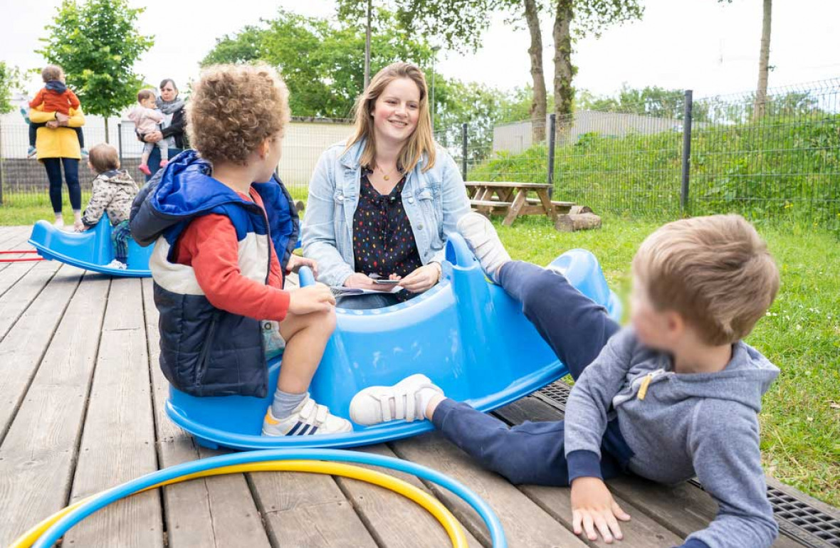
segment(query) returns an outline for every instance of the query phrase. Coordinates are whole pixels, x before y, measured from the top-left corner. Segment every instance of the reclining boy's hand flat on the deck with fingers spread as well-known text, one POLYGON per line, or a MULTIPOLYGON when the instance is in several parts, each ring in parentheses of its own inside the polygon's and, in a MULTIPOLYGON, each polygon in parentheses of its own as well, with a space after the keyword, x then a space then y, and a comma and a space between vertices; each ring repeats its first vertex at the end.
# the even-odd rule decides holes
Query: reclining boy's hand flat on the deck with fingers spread
POLYGON ((598 540, 600 532, 606 543, 622 540, 618 519, 628 521, 630 515, 618 506, 601 478, 575 478, 571 499, 575 535, 585 531, 589 540, 598 540))

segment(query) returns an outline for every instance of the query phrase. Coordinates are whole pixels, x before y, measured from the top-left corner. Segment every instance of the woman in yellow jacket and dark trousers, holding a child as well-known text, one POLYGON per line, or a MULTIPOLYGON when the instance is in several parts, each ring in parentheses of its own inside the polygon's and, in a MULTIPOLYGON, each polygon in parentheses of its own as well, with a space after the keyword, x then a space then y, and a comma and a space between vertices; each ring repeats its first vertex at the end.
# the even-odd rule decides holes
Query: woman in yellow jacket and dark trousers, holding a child
POLYGON ((64 178, 70 193, 70 205, 73 208, 73 225, 76 229, 83 229, 81 224, 81 187, 79 186, 79 138, 71 128, 81 128, 85 125, 85 115, 78 109, 70 109, 70 116, 60 112, 43 112, 40 107, 29 111, 29 119, 33 123, 46 123, 38 128, 35 138, 35 148, 38 149, 38 159, 47 170, 50 180, 50 202, 55 213, 55 226, 63 227, 61 217, 61 166, 64 166, 64 178))

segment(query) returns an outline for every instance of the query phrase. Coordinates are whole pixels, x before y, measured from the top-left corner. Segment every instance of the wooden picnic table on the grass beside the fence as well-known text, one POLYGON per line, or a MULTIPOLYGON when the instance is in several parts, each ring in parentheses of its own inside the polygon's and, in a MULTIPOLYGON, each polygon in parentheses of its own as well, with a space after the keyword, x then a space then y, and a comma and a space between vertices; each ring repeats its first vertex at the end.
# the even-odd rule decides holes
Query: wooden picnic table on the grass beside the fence
POLYGON ((568 213, 574 202, 552 201, 551 185, 517 183, 512 181, 475 181, 465 183, 470 205, 487 215, 504 215, 501 224, 510 227, 520 215, 544 215, 554 222, 555 217, 568 213), (535 194, 529 198, 528 194, 535 194))

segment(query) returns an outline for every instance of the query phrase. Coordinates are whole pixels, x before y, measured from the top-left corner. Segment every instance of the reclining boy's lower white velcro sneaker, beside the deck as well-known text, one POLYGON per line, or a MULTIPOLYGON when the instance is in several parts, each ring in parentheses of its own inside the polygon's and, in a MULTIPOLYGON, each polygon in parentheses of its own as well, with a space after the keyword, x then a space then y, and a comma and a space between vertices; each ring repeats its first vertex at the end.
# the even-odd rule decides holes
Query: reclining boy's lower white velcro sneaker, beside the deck
POLYGON ((420 373, 393 386, 370 386, 350 401, 350 420, 364 426, 399 419, 425 420, 425 404, 434 394, 443 395, 444 391, 420 373))

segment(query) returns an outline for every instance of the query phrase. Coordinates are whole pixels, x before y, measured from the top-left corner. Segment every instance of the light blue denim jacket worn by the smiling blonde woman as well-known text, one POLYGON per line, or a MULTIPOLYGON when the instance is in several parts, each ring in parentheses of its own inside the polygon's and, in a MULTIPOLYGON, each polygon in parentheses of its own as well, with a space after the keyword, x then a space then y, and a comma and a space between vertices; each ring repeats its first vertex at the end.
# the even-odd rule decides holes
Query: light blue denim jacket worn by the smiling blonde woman
MULTIPOLYGON (((333 144, 318 160, 303 222, 303 254, 318 261, 318 281, 343 285, 354 274, 353 216, 359 203, 365 141, 344 152, 333 144)), ((402 205, 411 223, 423 264, 444 260, 447 236, 470 211, 464 180, 451 156, 438 147, 432 169, 423 173, 426 157, 407 175, 402 205)), ((367 273, 365 273, 367 274, 367 273)))

